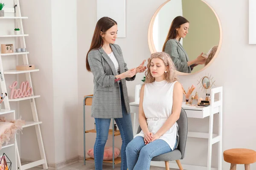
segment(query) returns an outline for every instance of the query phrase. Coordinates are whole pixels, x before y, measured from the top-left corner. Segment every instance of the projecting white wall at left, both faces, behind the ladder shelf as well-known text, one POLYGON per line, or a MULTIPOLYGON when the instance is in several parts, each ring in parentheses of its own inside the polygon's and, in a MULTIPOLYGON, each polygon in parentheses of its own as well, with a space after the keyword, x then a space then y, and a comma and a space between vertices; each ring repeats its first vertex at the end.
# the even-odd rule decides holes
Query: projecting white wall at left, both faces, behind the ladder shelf
MULTIPOLYGON (((77 10, 76 1, 21 0, 29 63, 40 69, 32 73, 47 163, 55 164, 77 154, 77 10), (61 4, 61 5, 60 5, 61 4)), ((32 120, 29 101, 20 102, 20 113, 32 120)), ((35 128, 23 129, 21 158, 40 159, 35 128)))

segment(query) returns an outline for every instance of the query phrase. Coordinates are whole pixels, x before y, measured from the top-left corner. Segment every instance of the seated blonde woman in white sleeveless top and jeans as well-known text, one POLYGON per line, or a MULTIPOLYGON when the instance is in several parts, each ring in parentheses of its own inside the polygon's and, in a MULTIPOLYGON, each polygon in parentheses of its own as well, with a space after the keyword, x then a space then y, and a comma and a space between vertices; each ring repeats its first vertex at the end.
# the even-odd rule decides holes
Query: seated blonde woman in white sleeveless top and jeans
POLYGON ((145 84, 140 91, 141 132, 126 147, 128 170, 149 170, 151 159, 177 148, 183 100, 175 66, 169 54, 157 52, 148 59, 145 84))

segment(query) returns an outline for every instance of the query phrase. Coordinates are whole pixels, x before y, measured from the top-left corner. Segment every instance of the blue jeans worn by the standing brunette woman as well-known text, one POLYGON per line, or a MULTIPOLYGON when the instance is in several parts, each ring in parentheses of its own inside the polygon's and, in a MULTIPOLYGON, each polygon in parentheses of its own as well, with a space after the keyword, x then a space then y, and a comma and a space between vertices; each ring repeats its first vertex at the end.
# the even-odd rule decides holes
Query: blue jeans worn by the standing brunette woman
MULTIPOLYGON (((122 93, 122 85, 119 85, 121 102, 122 102, 122 118, 116 118, 115 122, 120 130, 122 138, 121 147, 121 170, 127 170, 127 161, 125 149, 126 146, 133 139, 133 131, 131 124, 131 114, 127 114, 125 109, 125 102, 122 93)), ((110 126, 111 119, 101 119, 95 118, 96 123, 96 141, 94 144, 94 162, 95 170, 102 170, 104 147, 108 139, 108 130, 110 126)), ((113 146, 114 147, 114 146, 113 146)))

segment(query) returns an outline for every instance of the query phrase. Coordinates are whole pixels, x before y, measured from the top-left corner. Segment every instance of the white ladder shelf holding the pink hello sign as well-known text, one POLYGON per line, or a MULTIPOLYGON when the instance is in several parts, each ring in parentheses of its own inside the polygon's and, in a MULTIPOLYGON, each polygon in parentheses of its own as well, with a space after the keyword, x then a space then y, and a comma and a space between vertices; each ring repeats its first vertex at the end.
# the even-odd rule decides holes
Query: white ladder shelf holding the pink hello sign
MULTIPOLYGON (((15 23, 17 23, 17 28, 20 28, 20 34, 19 35, 0 35, 1 37, 10 37, 10 38, 14 38, 17 37, 18 40, 20 40, 20 46, 22 48, 26 48, 26 42, 25 42, 25 37, 29 36, 28 34, 24 34, 24 30, 23 30, 23 23, 22 23, 22 19, 28 19, 28 17, 22 17, 21 16, 21 11, 20 11, 20 2, 19 0, 14 0, 15 3, 15 9, 14 8, 7 8, 5 11, 8 12, 12 12, 15 14, 14 17, 0 17, 0 22, 1 20, 5 20, 5 19, 14 19, 15 23), (15 12, 16 11, 16 12, 15 12)), ((2 27, 0 27, 0 29, 3 29, 2 27)), ((9 43, 9 42, 6 42, 9 43)), ((19 53, 10 53, 10 54, 1 54, 0 51, 0 76, 2 76, 2 79, 0 79, 0 85, 1 85, 1 90, 2 93, 7 93, 7 87, 8 85, 6 85, 6 81, 5 81, 5 76, 8 76, 9 74, 26 74, 26 81, 29 82, 30 87, 32 87, 32 79, 31 79, 31 73, 32 72, 37 72, 39 71, 39 69, 34 69, 34 70, 27 70, 27 71, 20 71, 20 70, 3 70, 3 61, 2 61, 2 57, 4 56, 17 56, 19 55, 20 57, 23 57, 23 64, 22 65, 29 65, 29 60, 28 60, 28 55, 29 52, 19 52, 19 53)), ((16 58, 17 59, 17 58, 16 58)), ((16 66, 16 65, 14 65, 16 66)), ((33 89, 33 87, 32 87, 33 89)), ((22 100, 28 100, 30 102, 31 105, 31 110, 32 110, 32 116, 33 116, 33 121, 26 121, 26 124, 23 125, 23 128, 26 127, 31 127, 34 126, 35 127, 35 131, 36 131, 36 135, 37 135, 37 139, 38 139, 38 146, 39 146, 39 151, 40 151, 40 155, 41 155, 41 159, 31 162, 29 164, 24 164, 21 165, 21 161, 20 161, 20 153, 17 147, 17 140, 16 140, 16 136, 14 139, 14 142, 11 144, 8 144, 6 146, 3 146, 2 148, 9 148, 9 147, 15 147, 15 157, 16 157, 16 162, 17 162, 17 169, 18 170, 26 170, 32 167, 36 167, 38 165, 43 165, 44 169, 48 169, 48 165, 47 165, 47 159, 46 159, 46 155, 45 155, 45 151, 44 151, 44 144, 43 144, 43 139, 42 139, 42 134, 41 134, 41 129, 40 129, 40 124, 42 124, 42 122, 40 122, 38 120, 38 113, 37 113, 37 109, 36 109, 36 105, 35 105, 35 98, 40 97, 40 95, 34 95, 34 92, 32 92, 32 96, 28 96, 28 97, 21 97, 21 98, 17 98, 17 99, 9 99, 9 95, 7 95, 7 97, 5 97, 5 99, 3 100, 5 109, 2 109, 0 111, 0 115, 2 114, 7 114, 7 113, 14 113, 14 119, 15 119, 15 111, 10 110, 10 104, 9 102, 19 102, 22 100)), ((3 104, 2 104, 3 105, 3 104)), ((21 113, 22 115, 23 113, 21 113)), ((23 129, 24 130, 24 129, 23 129)), ((22 147, 22 144, 21 146, 22 147)))

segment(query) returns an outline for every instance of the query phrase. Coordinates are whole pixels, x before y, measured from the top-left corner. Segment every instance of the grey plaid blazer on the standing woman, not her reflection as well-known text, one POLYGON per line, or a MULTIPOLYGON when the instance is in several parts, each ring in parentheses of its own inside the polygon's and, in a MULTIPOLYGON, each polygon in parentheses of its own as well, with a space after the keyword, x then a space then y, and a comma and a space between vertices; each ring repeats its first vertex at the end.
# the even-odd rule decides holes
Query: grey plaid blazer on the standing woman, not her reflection
MULTIPOLYGON (((110 47, 119 64, 120 74, 127 71, 128 68, 119 45, 110 44, 110 47)), ((95 118, 122 118, 119 83, 114 81, 116 69, 112 60, 103 48, 99 48, 89 52, 88 62, 93 73, 94 83, 91 116, 95 118)), ((133 81, 135 77, 136 75, 121 80, 127 113, 130 113, 130 105, 126 80, 133 81)))

